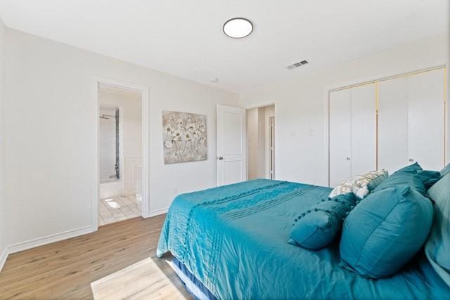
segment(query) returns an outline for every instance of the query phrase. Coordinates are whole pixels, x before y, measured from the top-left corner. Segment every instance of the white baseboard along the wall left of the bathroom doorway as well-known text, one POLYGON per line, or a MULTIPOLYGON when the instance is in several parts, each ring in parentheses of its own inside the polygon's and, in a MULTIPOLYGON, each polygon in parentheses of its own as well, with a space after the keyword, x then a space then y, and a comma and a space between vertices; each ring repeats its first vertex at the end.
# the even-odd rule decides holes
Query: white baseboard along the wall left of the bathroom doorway
POLYGON ((12 244, 7 247, 8 254, 13 254, 15 252, 20 252, 34 247, 39 247, 44 244, 50 244, 52 242, 59 242, 60 240, 67 240, 70 239, 71 237, 77 237, 79 235, 86 235, 88 233, 92 233, 93 231, 94 230, 92 230, 92 226, 84 226, 82 228, 64 231, 63 233, 56 233, 54 235, 39 237, 34 240, 19 242, 17 244, 12 244))

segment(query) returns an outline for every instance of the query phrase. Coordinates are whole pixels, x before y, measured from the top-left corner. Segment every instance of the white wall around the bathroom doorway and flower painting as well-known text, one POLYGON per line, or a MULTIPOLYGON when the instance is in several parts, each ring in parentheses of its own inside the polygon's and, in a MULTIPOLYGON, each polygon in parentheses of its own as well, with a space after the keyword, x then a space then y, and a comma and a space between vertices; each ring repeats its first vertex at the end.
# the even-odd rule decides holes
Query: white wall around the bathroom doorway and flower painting
POLYGON ((235 93, 6 30, 4 178, 8 244, 91 225, 96 103, 92 75, 148 86, 150 211, 216 185, 217 103, 235 93), (207 115, 208 159, 163 163, 162 110, 207 115))

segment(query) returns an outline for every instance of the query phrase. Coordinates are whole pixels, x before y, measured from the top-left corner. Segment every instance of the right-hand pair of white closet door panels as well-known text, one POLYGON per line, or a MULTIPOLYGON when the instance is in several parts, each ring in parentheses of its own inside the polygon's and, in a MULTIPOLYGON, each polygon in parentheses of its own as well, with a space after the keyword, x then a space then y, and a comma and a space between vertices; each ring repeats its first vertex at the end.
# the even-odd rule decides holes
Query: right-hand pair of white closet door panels
POLYGON ((378 167, 444 166, 444 70, 380 81, 378 167))

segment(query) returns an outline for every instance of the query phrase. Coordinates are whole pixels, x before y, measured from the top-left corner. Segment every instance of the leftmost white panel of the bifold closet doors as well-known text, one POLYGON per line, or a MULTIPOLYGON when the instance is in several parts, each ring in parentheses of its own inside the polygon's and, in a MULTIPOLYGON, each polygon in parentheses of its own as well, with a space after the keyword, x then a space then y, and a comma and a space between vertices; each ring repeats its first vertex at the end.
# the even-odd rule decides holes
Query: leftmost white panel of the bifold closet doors
POLYGON ((352 93, 349 89, 330 93, 330 186, 352 174, 352 93), (348 159, 347 159, 348 158, 348 159))

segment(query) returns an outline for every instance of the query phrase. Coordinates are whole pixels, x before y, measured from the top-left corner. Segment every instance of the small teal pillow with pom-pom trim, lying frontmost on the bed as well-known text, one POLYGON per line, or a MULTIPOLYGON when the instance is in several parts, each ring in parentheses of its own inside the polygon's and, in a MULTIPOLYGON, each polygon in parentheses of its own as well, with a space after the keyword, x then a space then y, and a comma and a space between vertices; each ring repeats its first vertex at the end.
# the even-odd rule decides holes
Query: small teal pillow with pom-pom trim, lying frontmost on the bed
POLYGON ((353 193, 322 200, 297 216, 288 242, 310 250, 328 246, 338 235, 342 219, 353 209, 355 202, 353 193))

